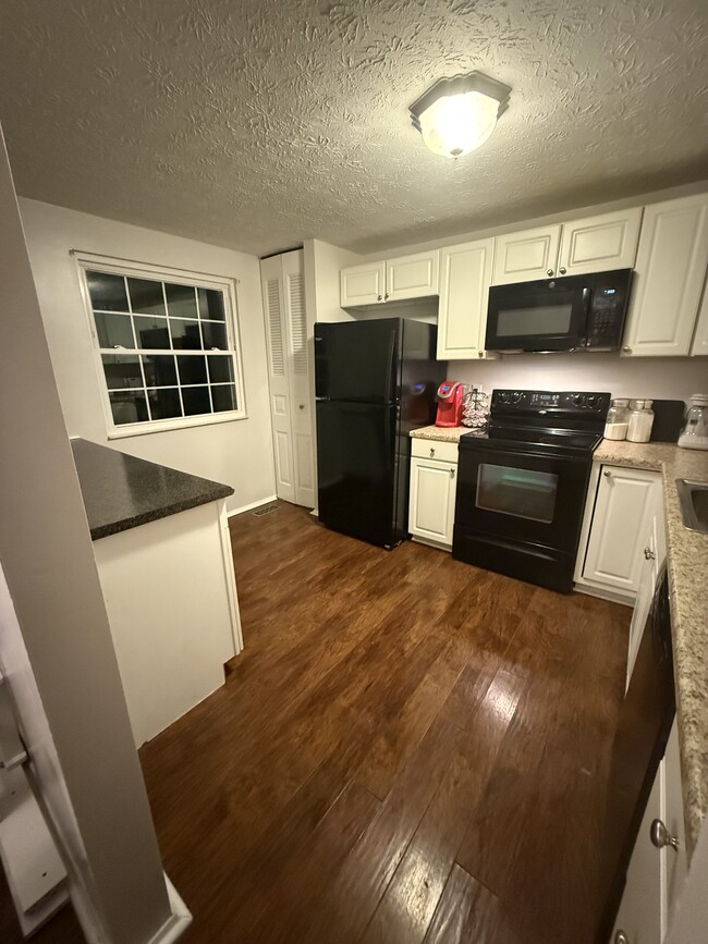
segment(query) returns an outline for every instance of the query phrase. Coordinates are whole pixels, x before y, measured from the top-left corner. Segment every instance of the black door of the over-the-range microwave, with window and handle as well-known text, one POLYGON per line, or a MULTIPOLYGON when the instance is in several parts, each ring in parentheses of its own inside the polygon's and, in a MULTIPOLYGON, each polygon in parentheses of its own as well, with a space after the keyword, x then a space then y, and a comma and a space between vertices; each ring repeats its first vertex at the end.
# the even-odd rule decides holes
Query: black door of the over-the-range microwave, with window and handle
POLYGON ((487 351, 570 351, 585 346, 593 292, 582 278, 492 285, 487 351))

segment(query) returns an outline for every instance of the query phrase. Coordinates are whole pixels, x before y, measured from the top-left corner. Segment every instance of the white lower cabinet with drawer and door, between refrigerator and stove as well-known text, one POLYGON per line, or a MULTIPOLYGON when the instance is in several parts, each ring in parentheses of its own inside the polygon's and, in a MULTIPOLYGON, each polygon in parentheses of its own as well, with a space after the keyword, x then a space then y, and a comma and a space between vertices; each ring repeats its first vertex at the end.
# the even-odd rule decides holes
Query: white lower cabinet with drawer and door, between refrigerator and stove
POLYGON ((452 548, 457 488, 457 444, 414 439, 408 530, 415 540, 452 548))

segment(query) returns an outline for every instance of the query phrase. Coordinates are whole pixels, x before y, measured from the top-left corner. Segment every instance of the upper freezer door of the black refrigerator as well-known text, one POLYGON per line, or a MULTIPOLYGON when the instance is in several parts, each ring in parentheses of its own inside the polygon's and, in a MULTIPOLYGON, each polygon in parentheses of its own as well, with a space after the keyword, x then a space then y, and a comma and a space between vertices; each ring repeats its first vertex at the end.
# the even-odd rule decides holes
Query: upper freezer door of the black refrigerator
POLYGON ((349 403, 394 403, 400 338, 399 318, 316 324, 316 395, 349 403))

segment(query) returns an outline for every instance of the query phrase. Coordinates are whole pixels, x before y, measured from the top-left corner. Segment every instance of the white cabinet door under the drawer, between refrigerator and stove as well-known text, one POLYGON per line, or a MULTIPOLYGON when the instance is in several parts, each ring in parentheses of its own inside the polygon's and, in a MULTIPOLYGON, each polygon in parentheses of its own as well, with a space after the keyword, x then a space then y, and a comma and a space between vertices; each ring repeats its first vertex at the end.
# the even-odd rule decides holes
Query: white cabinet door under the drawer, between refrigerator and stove
POLYGON ((423 540, 452 547, 457 466, 411 459, 408 529, 423 540))

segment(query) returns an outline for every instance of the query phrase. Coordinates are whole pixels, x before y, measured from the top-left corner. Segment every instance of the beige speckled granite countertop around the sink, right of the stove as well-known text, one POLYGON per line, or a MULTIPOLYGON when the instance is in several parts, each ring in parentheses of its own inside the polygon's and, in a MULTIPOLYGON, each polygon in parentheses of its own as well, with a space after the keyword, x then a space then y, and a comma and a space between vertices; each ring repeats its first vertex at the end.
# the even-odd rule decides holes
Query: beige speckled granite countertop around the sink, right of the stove
POLYGON ((708 813, 708 535, 684 527, 675 480, 708 482, 708 452, 664 443, 603 440, 595 461, 657 469, 662 475, 673 672, 691 854, 708 813))

